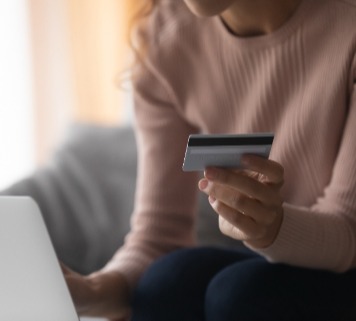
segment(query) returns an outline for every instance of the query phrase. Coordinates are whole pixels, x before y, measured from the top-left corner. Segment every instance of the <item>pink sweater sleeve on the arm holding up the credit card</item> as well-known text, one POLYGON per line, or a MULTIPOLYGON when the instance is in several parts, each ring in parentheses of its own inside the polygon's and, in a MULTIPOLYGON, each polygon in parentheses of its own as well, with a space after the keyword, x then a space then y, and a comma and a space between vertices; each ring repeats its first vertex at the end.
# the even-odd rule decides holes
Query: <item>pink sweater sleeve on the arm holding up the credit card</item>
POLYGON ((271 262, 343 272, 356 267, 356 58, 349 111, 331 180, 310 207, 284 204, 275 242, 254 249, 271 262))

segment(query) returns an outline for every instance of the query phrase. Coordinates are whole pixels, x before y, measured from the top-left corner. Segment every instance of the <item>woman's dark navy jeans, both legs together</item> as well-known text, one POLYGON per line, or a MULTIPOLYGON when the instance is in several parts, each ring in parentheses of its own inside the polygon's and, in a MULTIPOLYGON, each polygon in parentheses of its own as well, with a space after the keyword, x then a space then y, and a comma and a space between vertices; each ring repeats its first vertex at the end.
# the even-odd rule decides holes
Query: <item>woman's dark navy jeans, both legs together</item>
POLYGON ((356 270, 271 264, 250 251, 177 250, 133 296, 132 321, 354 321, 356 270))

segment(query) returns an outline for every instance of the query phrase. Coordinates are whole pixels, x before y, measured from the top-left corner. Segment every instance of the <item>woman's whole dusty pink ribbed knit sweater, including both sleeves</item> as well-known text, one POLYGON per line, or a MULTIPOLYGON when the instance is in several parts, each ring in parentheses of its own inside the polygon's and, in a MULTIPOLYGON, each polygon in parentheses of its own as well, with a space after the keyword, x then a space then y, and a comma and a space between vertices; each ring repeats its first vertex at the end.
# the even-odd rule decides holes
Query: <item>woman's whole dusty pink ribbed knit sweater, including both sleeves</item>
MULTIPOLYGON (((284 220, 271 262, 356 267, 356 0, 304 0, 272 34, 239 38, 168 0, 135 80, 139 170, 132 231, 107 265, 134 286, 158 256, 195 244, 189 134, 274 132, 284 220)), ((218 226, 216 227, 218 228, 218 226)))

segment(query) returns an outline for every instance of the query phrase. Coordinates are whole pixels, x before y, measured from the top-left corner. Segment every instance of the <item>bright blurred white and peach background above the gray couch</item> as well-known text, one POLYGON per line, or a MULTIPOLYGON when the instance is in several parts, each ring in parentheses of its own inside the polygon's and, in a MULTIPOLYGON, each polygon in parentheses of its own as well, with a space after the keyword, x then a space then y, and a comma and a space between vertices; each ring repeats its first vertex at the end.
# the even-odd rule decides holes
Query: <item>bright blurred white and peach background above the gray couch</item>
POLYGON ((73 122, 119 125, 137 0, 0 2, 0 188, 46 161, 73 122))

